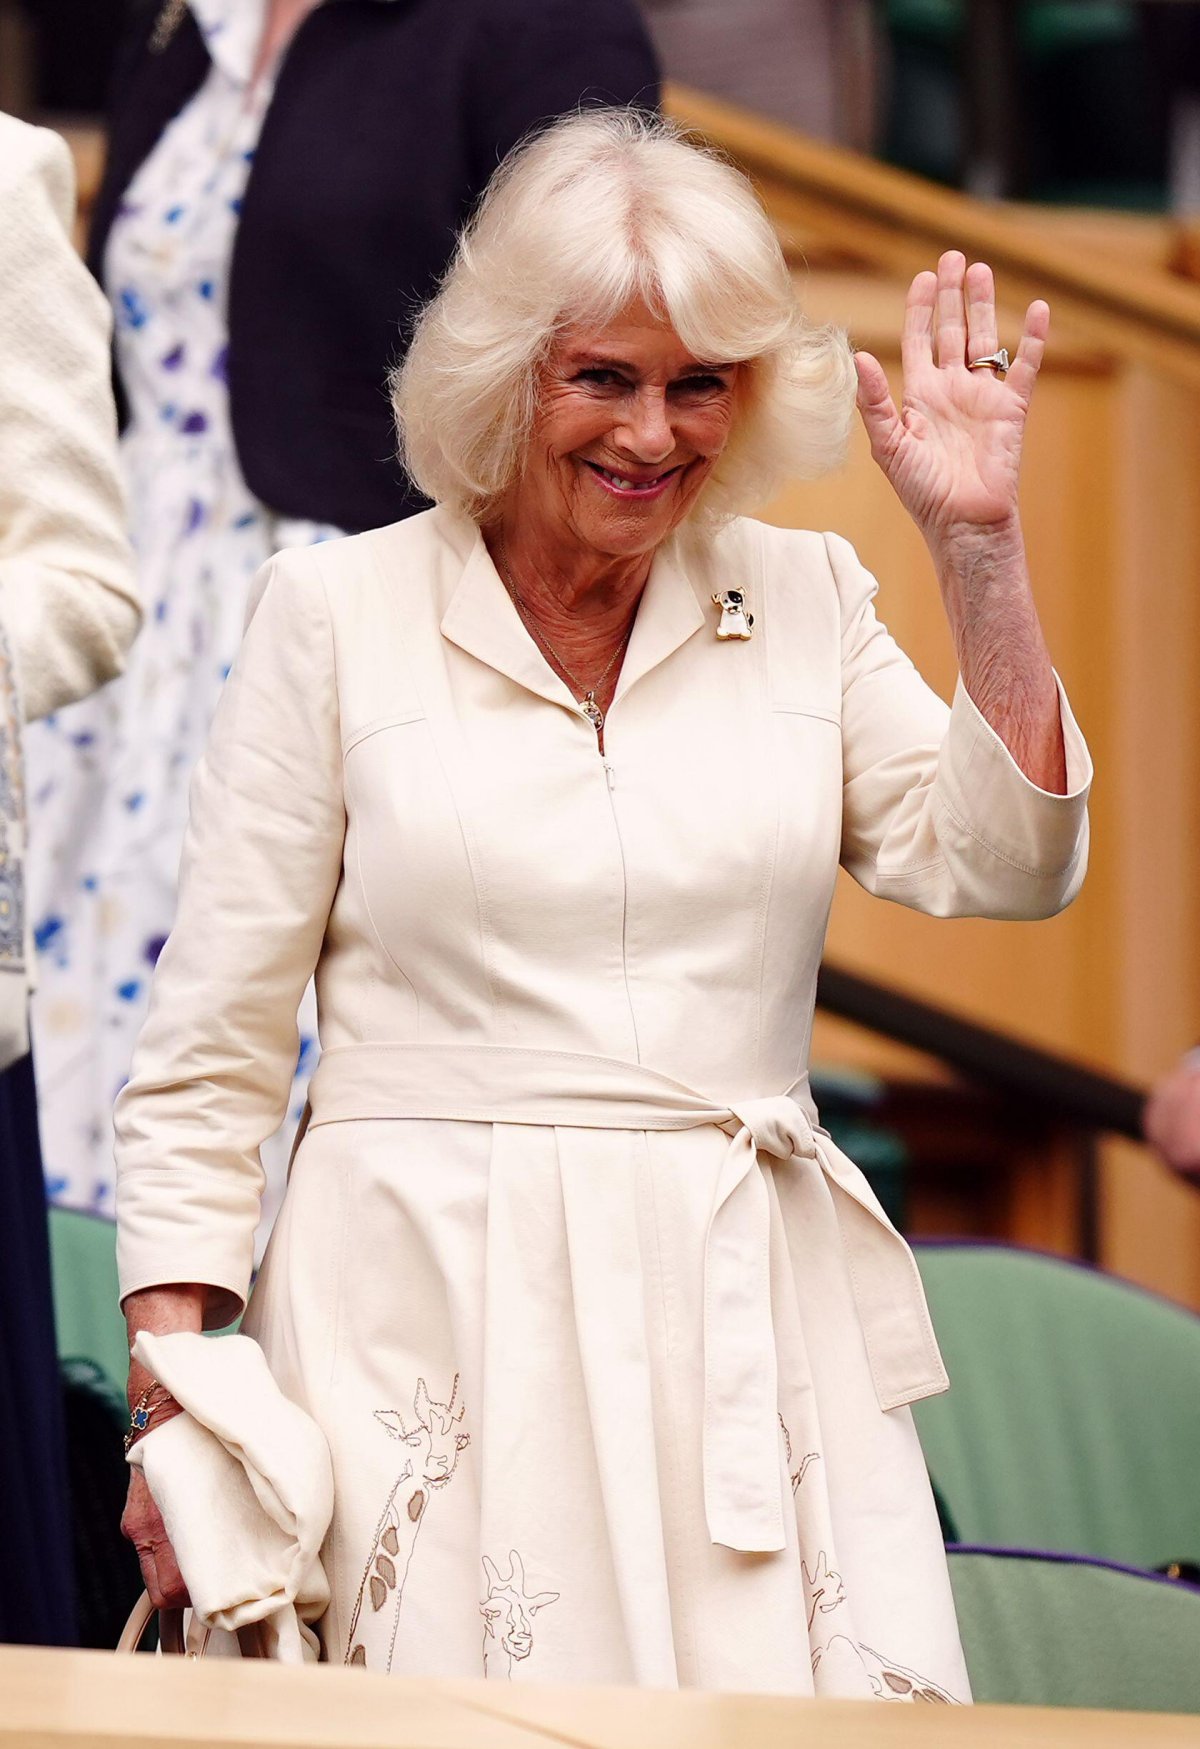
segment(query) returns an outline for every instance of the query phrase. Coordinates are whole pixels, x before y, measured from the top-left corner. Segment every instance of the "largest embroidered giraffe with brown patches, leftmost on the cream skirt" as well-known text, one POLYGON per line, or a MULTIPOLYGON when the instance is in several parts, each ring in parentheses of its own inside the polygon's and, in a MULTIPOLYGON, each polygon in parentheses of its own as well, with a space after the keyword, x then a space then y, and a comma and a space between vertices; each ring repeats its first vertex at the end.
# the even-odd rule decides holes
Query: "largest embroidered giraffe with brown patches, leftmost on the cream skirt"
POLYGON ((374 1541, 362 1574, 346 1635, 346 1663, 371 1670, 390 1670, 395 1655, 395 1635, 404 1606, 404 1586, 413 1565, 413 1553, 425 1513, 436 1494, 446 1488, 458 1467, 458 1459, 471 1445, 471 1434, 462 1431, 465 1404, 458 1399, 458 1373, 448 1403, 436 1403, 423 1378, 413 1392, 413 1425, 401 1410, 376 1410, 374 1420, 392 1439, 408 1448, 404 1469, 392 1483, 374 1541), (387 1602, 392 1609, 385 1611, 387 1602))

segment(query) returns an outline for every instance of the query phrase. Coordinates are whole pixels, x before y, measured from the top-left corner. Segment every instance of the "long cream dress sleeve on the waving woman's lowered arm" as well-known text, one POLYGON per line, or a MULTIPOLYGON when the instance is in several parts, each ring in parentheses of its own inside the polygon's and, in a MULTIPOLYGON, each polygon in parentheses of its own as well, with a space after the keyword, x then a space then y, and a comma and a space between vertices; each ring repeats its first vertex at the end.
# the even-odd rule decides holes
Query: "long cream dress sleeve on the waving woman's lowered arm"
POLYGON ((287 1109, 345 843, 317 561, 283 553, 261 582, 192 778, 177 922, 115 1112, 121 1294, 206 1284, 210 1326, 250 1284, 259 1149, 287 1109))

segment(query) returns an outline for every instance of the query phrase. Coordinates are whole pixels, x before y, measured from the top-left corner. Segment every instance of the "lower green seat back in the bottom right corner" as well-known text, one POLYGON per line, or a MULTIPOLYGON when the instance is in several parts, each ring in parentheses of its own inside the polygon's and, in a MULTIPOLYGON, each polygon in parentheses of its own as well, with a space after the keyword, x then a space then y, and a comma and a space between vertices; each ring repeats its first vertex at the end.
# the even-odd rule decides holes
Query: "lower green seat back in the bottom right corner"
POLYGON ((1197 1586, 1064 1555, 946 1557, 978 1702, 1200 1712, 1197 1586))

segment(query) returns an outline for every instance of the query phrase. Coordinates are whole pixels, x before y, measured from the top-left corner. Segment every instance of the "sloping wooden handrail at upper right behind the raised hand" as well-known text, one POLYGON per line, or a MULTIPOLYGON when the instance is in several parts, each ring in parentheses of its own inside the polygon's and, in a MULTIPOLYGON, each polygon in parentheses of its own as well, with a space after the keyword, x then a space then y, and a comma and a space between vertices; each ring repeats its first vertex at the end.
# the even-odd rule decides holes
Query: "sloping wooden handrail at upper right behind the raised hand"
POLYGON ((1104 345, 1200 381, 1200 289, 1169 271, 1064 245, 1004 205, 805 138, 707 93, 670 86, 666 108, 757 182, 785 243, 794 240, 801 254, 840 243, 869 264, 910 273, 943 248, 962 248, 1104 345))

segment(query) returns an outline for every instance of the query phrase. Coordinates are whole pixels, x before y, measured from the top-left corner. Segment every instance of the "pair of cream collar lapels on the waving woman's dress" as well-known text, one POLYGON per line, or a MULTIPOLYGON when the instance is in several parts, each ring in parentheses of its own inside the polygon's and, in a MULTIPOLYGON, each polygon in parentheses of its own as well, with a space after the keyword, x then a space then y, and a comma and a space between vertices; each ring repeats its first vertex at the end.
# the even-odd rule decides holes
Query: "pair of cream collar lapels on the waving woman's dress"
MULTIPOLYGON (((673 656, 703 624, 703 609, 687 579, 679 547, 670 540, 654 554, 614 703, 652 668, 673 656)), ((462 577, 443 614, 441 631, 458 649, 507 675, 527 693, 535 693, 551 705, 579 710, 565 682, 558 679, 525 630, 478 528, 462 577)))

